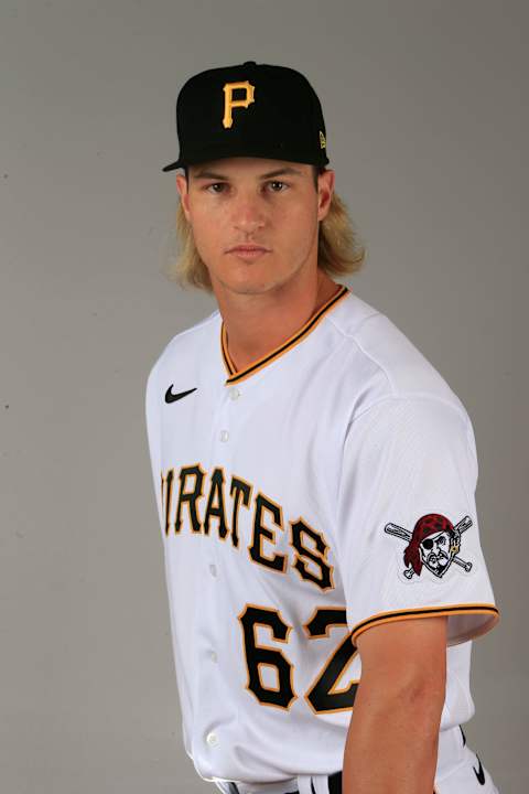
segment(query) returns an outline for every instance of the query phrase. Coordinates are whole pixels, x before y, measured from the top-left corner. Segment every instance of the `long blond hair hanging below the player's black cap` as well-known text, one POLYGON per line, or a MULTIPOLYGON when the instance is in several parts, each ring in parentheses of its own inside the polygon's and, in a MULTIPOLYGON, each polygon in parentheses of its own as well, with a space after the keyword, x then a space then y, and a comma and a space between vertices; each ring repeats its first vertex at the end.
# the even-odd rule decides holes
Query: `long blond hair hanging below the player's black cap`
MULTIPOLYGON (((187 169, 185 178, 188 181, 187 169)), ((325 167, 313 167, 313 181, 317 190, 317 175, 325 167)), ((171 281, 176 281, 183 289, 195 287, 213 293, 209 272, 201 258, 187 223, 182 203, 176 208, 176 225, 172 229, 180 247, 180 253, 170 255, 164 261, 163 271, 171 281)), ((317 239, 317 267, 328 276, 349 276, 357 272, 364 265, 366 249, 360 244, 358 233, 349 217, 347 205, 333 192, 327 215, 320 221, 317 239)))

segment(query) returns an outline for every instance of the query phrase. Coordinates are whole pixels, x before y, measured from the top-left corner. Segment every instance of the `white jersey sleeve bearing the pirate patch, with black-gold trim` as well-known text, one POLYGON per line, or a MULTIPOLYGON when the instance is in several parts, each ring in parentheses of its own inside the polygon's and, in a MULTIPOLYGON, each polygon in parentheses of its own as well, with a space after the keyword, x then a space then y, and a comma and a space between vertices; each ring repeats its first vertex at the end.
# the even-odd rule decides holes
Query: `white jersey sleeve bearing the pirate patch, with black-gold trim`
POLYGON ((447 615, 447 645, 497 624, 476 482, 464 409, 391 396, 353 419, 334 530, 353 642, 376 623, 413 618, 447 615))

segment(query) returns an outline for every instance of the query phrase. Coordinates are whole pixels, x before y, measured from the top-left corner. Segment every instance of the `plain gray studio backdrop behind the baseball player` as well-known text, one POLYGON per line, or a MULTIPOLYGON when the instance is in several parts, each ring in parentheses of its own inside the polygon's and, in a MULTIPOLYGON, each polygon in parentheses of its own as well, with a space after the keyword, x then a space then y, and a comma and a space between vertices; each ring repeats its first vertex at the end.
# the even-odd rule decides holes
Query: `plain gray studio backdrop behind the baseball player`
POLYGON ((212 794, 182 745, 144 429, 148 371, 216 308, 162 273, 194 72, 303 71, 368 249, 348 283, 472 418, 503 616, 468 744, 527 791, 527 4, 0 7, 0 787, 212 794))

